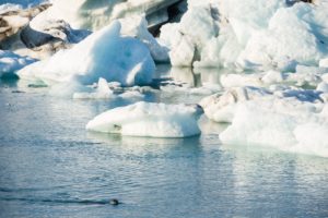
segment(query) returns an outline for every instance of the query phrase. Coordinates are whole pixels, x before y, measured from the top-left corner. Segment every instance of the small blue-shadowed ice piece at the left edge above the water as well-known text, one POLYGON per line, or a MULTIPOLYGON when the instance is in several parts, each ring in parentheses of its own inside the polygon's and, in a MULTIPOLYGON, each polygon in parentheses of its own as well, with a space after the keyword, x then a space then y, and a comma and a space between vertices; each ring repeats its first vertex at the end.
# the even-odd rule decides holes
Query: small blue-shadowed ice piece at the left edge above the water
POLYGON ((21 57, 11 51, 0 50, 0 77, 13 75, 15 71, 35 61, 35 59, 30 57, 21 57))

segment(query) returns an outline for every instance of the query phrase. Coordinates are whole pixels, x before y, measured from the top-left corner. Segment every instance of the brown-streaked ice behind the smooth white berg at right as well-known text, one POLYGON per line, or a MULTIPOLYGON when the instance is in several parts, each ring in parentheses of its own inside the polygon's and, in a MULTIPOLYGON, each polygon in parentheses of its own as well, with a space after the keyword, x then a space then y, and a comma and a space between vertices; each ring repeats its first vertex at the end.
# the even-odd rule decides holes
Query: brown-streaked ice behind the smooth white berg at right
POLYGON ((263 102, 270 102, 281 100, 281 102, 293 102, 289 109, 297 110, 292 106, 311 104, 315 107, 315 104, 326 102, 321 95, 323 92, 320 90, 302 89, 293 86, 272 85, 269 88, 244 86, 227 88, 225 92, 208 96, 199 105, 209 119, 215 122, 230 123, 233 122, 236 108, 246 101, 262 100, 263 102))

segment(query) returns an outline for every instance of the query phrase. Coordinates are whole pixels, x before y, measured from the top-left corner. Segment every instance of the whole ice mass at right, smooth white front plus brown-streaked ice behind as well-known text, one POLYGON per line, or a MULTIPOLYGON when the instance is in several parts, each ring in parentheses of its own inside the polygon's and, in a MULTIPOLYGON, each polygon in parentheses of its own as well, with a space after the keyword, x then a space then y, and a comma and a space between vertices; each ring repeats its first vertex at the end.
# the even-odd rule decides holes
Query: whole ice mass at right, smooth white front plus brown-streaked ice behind
POLYGON ((220 134, 225 144, 328 157, 327 93, 234 87, 204 98, 200 105, 211 120, 231 122, 220 134))

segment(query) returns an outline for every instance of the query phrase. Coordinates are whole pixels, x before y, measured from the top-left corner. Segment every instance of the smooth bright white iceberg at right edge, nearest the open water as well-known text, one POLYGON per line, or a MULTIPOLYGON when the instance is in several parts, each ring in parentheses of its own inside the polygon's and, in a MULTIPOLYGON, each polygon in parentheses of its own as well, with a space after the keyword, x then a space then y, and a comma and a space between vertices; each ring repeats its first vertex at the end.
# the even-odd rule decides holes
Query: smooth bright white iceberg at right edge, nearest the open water
POLYGON ((271 146, 284 152, 328 157, 328 120, 314 104, 294 99, 239 104, 224 144, 271 146))

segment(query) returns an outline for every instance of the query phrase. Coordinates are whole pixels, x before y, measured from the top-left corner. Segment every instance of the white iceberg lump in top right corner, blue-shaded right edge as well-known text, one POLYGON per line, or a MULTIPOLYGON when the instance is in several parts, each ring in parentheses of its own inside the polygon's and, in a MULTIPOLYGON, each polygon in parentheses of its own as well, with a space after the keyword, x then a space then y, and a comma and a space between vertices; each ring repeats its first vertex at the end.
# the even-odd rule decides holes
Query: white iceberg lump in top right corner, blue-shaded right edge
POLYGON ((328 22, 320 21, 327 21, 327 9, 300 2, 277 10, 268 28, 251 35, 239 58, 267 65, 279 64, 285 57, 302 64, 318 64, 327 56, 324 36, 328 22))

